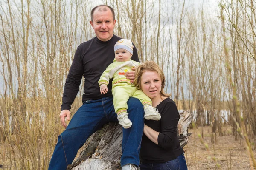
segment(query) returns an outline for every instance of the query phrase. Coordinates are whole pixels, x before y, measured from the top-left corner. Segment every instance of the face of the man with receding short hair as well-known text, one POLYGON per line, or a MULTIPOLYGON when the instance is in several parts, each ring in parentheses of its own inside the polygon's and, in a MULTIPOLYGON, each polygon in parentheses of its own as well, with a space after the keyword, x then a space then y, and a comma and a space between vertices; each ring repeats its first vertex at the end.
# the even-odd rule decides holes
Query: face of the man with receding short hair
POLYGON ((107 7, 99 7, 93 13, 93 22, 90 21, 96 36, 99 40, 108 41, 113 37, 113 30, 116 20, 113 19, 113 14, 107 7), (101 10, 99 10, 99 8, 101 10), (107 10, 104 10, 106 8, 107 10))

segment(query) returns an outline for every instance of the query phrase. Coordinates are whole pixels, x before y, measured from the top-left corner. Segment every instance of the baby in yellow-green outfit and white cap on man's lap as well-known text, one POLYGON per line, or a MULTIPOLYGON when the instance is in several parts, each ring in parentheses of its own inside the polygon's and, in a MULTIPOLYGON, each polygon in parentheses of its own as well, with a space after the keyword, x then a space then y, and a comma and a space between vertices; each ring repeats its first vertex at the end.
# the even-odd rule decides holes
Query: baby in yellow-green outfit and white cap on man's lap
POLYGON ((133 54, 133 45, 131 40, 121 39, 114 46, 115 59, 108 68, 103 72, 99 79, 99 87, 101 94, 108 91, 108 83, 111 78, 113 105, 117 113, 119 124, 125 129, 131 127, 132 123, 128 118, 127 101, 130 97, 140 100, 144 108, 144 118, 148 120, 160 120, 161 116, 152 106, 151 99, 141 90, 138 90, 129 79, 126 79, 125 72, 132 71, 131 68, 140 65, 139 62, 131 60, 133 54))

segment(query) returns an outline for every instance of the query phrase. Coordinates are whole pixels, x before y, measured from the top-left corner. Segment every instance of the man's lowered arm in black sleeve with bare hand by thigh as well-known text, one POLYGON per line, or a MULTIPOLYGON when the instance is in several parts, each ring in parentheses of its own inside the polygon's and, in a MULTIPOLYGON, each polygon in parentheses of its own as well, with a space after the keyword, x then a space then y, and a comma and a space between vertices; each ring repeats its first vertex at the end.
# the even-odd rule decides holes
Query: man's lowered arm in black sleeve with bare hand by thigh
POLYGON ((79 91, 81 78, 84 73, 83 61, 80 57, 80 54, 80 49, 78 47, 76 49, 76 53, 64 86, 60 113, 61 125, 64 128, 67 127, 65 124, 65 117, 67 117, 67 120, 70 120, 71 105, 79 91))

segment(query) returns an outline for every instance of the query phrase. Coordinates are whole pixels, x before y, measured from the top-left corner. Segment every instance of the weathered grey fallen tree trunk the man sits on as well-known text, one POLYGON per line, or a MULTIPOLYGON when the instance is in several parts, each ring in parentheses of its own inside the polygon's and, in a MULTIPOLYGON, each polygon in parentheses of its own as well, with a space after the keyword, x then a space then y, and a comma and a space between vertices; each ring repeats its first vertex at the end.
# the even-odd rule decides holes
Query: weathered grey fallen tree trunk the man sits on
MULTIPOLYGON (((192 120, 189 111, 180 113, 177 134, 180 146, 184 147, 191 133, 188 127, 192 120)), ((117 122, 105 125, 94 133, 84 145, 84 150, 68 169, 72 170, 117 170, 121 169, 122 127, 117 122)))

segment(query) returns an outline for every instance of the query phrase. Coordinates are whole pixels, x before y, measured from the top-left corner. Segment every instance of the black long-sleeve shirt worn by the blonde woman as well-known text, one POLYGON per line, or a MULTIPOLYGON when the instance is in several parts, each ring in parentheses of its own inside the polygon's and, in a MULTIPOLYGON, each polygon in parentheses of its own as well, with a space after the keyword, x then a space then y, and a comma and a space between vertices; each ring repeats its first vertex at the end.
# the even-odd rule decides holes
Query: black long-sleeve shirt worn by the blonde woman
POLYGON ((145 120, 145 125, 160 132, 157 138, 158 145, 143 133, 140 149, 140 159, 143 163, 162 163, 176 159, 183 153, 177 136, 180 114, 175 102, 166 98, 156 108, 161 114, 161 119, 145 120))

